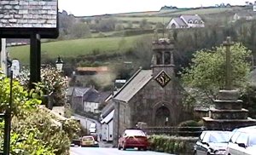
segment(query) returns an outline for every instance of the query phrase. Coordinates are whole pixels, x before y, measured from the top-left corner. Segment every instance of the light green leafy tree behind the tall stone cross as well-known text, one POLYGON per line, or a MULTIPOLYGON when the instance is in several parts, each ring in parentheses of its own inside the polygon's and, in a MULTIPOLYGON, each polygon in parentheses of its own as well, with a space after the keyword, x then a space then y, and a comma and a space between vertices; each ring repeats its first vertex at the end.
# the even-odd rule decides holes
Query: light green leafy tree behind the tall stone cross
MULTIPOLYGON (((247 58, 251 51, 241 43, 236 43, 230 48, 232 78, 234 89, 241 89, 247 83, 250 63, 247 58)), ((220 46, 212 50, 201 50, 194 54, 192 64, 183 71, 183 83, 198 89, 209 97, 216 99, 219 89, 225 86, 225 47, 220 46)))

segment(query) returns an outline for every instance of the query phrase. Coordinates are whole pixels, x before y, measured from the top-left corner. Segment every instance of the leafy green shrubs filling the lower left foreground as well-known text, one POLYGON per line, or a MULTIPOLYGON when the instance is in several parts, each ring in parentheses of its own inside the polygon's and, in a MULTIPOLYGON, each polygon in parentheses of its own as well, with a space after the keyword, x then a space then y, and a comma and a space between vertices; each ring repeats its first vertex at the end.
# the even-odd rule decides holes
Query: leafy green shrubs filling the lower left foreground
MULTIPOLYGON (((12 87, 9 83, 9 78, 0 74, 0 112, 6 111, 10 89, 13 91, 10 154, 69 154, 70 138, 79 133, 79 125, 74 121, 64 120, 61 129, 59 123, 63 120, 39 106, 39 91, 29 93, 16 80, 12 87)), ((3 152, 3 128, 4 122, 1 119, 0 152, 3 152)))

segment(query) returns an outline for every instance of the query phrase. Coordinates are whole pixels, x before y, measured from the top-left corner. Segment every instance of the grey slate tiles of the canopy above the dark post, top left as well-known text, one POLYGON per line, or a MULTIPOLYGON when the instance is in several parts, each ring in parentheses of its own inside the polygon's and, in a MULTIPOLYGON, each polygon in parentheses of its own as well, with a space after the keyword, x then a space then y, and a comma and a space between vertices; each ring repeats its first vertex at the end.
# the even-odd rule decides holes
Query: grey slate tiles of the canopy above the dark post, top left
POLYGON ((57 0, 1 0, 0 27, 56 28, 57 0))

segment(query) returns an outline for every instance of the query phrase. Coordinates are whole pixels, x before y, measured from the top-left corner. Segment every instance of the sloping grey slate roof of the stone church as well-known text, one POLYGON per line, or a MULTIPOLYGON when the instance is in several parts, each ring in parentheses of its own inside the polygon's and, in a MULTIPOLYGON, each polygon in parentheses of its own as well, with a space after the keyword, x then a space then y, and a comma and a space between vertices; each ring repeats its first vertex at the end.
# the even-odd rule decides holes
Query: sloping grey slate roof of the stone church
POLYGON ((151 78, 152 70, 139 70, 121 89, 119 89, 119 92, 113 96, 113 99, 127 103, 140 89, 143 89, 151 78))

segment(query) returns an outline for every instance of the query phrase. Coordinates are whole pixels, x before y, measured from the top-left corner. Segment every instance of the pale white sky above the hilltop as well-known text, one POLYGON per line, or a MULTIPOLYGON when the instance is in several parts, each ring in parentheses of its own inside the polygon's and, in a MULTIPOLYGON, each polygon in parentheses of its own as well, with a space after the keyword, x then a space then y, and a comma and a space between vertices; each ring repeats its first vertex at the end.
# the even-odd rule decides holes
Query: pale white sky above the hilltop
MULTIPOLYGON (((75 16, 158 11, 163 6, 196 8, 220 3, 244 5, 245 0, 59 0, 59 9, 75 16)), ((248 1, 254 2, 254 1, 248 1)))

